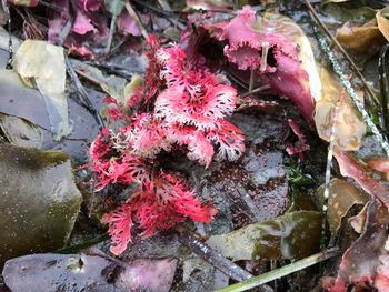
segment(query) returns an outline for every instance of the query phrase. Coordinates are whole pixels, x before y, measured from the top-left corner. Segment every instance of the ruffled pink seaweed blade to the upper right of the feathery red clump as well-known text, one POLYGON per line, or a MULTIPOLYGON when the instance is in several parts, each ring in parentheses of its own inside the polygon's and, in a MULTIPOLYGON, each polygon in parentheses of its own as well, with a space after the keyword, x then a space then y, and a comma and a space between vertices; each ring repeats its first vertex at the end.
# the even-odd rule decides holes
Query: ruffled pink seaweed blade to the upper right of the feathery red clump
POLYGON ((215 23, 215 18, 206 17, 198 21, 202 21, 200 27, 211 37, 228 42, 223 49, 228 61, 239 70, 257 70, 262 84, 270 84, 278 94, 290 98, 301 114, 313 122, 309 75, 299 60, 298 46, 282 34, 285 31, 292 33, 292 30, 282 21, 257 18, 249 6, 245 6, 230 21, 215 23))

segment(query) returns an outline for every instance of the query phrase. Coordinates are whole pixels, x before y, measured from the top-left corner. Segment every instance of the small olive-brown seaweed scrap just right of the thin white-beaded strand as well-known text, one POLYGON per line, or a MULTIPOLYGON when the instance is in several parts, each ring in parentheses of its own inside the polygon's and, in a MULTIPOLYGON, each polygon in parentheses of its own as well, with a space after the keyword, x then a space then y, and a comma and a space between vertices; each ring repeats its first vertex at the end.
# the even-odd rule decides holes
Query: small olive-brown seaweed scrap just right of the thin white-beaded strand
MULTIPOLYGON (((347 215, 351 207, 366 204, 369 197, 352 184, 340 179, 331 180, 329 192, 327 221, 331 233, 337 234, 342 218, 347 215)), ((319 193, 322 193, 322 188, 319 193)))

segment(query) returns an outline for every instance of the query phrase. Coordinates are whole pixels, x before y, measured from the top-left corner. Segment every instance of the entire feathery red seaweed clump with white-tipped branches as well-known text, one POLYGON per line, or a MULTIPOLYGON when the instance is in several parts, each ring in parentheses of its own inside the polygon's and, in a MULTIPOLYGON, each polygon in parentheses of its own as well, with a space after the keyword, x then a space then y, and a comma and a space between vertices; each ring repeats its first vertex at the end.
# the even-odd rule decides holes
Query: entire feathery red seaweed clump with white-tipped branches
POLYGON ((96 191, 139 183, 124 204, 103 217, 114 254, 131 241, 131 230, 151 236, 187 218, 210 222, 217 212, 196 198, 182 177, 162 171, 161 151, 179 150, 206 168, 215 148, 219 160, 237 160, 245 151, 242 132, 225 120, 237 100, 227 79, 209 72, 198 60, 188 60, 177 46, 161 49, 154 37, 148 44, 146 84, 130 99, 140 112, 127 115, 113 99, 106 99, 111 104, 110 121, 120 120, 120 127, 104 129, 90 148, 96 191))

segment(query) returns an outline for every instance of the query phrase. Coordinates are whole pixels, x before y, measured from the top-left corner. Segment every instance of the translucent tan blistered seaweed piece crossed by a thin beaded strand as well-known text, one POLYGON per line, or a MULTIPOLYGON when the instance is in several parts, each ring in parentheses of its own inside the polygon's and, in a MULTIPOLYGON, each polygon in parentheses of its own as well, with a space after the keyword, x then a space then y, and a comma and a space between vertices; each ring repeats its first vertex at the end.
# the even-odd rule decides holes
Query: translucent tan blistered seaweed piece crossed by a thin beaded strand
MULTIPOLYGON (((335 108, 340 100, 336 121, 335 145, 345 151, 358 150, 366 133, 366 124, 355 109, 351 98, 333 73, 320 70, 322 99, 316 103, 315 123, 321 139, 329 141, 335 108)), ((359 92, 361 94, 361 92, 359 92)))

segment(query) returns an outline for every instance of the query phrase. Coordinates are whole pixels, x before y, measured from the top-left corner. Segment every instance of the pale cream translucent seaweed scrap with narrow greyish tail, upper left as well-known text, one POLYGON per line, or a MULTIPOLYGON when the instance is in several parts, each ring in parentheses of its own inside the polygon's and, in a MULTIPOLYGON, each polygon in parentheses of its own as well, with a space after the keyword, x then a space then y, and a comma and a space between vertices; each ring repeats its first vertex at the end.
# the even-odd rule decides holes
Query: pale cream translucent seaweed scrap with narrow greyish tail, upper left
POLYGON ((71 132, 64 94, 66 66, 63 48, 44 41, 27 40, 18 49, 13 68, 24 84, 38 88, 44 97, 54 140, 71 132))

